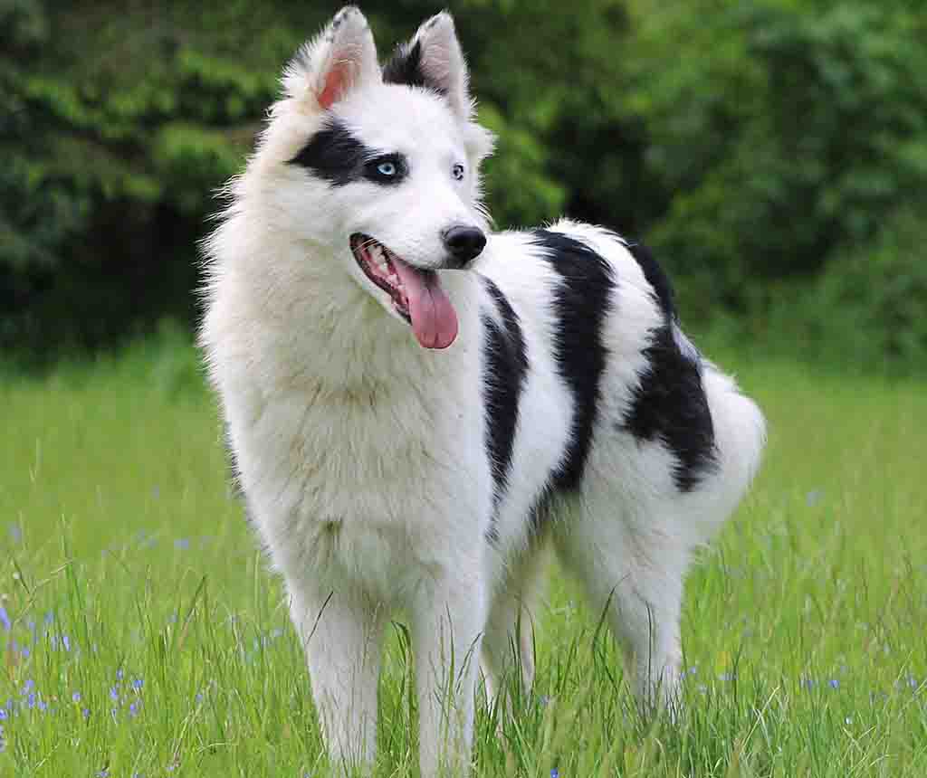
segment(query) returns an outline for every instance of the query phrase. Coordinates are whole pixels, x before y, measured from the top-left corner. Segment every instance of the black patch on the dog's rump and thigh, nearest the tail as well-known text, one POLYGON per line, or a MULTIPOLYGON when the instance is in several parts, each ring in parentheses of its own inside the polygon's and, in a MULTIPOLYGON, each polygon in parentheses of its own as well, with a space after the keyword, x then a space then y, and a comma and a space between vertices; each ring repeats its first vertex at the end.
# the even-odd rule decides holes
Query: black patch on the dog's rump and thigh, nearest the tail
POLYGON ((717 470, 715 428, 702 385, 698 353, 680 347, 673 293, 667 276, 650 251, 628 245, 644 277, 654 287, 663 323, 644 350, 648 368, 634 391, 622 427, 639 440, 659 440, 676 458, 673 481, 680 492, 690 492, 717 470))

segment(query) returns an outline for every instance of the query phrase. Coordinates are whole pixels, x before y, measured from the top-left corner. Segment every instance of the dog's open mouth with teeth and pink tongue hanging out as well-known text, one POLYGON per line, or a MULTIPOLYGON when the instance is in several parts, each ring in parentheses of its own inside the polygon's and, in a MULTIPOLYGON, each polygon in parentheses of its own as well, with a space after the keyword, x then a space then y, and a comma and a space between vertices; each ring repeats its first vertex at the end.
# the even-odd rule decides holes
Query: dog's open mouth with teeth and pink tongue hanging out
POLYGON ((393 308, 412 325, 425 348, 447 348, 457 337, 457 313, 438 273, 410 265, 370 235, 350 236, 354 260, 372 283, 389 295, 393 308))

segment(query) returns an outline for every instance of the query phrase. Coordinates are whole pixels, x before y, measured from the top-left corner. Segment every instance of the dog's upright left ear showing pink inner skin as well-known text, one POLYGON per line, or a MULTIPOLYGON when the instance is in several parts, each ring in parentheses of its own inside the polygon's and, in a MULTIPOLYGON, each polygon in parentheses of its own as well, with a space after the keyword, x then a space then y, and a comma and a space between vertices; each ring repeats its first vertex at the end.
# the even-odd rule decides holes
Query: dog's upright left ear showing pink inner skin
POLYGON ((357 6, 345 6, 284 71, 286 94, 327 110, 352 89, 379 82, 374 34, 357 6))

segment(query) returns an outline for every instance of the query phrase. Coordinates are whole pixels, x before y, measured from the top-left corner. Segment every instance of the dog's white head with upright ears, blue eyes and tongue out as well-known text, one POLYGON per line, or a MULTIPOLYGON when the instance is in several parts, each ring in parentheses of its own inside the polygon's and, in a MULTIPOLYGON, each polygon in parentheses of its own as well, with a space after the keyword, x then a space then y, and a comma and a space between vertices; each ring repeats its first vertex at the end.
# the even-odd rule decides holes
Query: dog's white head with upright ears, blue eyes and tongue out
POLYGON ((451 345, 440 275, 486 244, 478 168, 492 146, 451 16, 425 21, 381 69, 367 20, 345 7, 283 84, 252 161, 274 229, 327 249, 421 345, 451 345))

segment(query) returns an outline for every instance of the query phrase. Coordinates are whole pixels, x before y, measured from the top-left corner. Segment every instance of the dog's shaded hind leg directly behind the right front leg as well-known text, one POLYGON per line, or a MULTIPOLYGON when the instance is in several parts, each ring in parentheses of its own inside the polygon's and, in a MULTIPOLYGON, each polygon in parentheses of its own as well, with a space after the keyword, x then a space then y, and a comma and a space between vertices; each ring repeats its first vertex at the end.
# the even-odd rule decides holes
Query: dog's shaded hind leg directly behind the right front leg
POLYGON ((487 697, 492 705, 517 671, 521 692, 534 684, 534 620, 548 554, 532 546, 510 563, 489 608, 483 635, 481 663, 486 676, 487 697))

